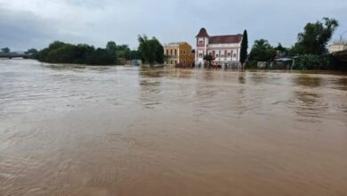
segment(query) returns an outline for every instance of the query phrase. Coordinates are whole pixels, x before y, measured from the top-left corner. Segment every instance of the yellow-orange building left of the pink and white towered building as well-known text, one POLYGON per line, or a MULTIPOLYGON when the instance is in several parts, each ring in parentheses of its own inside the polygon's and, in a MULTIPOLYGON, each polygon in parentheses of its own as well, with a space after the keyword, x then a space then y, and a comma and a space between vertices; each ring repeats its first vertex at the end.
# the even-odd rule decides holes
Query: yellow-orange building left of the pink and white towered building
POLYGON ((164 54, 167 57, 165 65, 191 68, 194 63, 194 53, 191 45, 186 42, 177 42, 164 45, 164 54))

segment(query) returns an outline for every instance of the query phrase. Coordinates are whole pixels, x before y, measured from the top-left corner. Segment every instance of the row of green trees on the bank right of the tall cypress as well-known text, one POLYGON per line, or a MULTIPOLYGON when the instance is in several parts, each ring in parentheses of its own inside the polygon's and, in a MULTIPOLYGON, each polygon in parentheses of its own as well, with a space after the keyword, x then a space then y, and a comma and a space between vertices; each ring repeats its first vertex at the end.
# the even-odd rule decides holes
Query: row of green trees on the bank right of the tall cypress
POLYGON ((330 41, 339 23, 335 19, 323 18, 309 22, 297 36, 297 42, 286 48, 280 43, 273 46, 266 39, 254 41, 248 55, 248 68, 256 68, 257 61, 273 61, 278 56, 295 57, 294 69, 335 69, 334 59, 327 53, 330 41))

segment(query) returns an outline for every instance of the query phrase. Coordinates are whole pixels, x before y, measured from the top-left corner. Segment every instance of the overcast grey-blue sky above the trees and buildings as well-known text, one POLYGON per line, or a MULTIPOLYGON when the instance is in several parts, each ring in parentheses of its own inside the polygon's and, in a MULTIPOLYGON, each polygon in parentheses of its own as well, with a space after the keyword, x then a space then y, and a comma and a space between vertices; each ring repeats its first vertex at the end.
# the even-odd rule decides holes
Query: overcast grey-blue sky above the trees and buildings
MULTIPOLYGON (((0 0, 0 47, 42 49, 54 40, 104 47, 109 40, 137 47, 146 34, 194 45, 198 30, 242 33, 290 46, 309 21, 339 20, 347 30, 347 0, 0 0)), ((347 34, 344 36, 347 38, 347 34)))

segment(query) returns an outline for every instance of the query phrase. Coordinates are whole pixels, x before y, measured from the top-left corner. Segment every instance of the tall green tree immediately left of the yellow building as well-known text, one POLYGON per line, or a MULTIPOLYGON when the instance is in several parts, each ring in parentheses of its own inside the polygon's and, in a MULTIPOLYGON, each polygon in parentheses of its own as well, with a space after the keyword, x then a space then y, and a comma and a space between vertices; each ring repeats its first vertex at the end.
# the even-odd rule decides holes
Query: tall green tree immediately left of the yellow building
POLYGON ((164 62, 164 47, 160 44, 156 37, 149 39, 146 36, 139 36, 139 53, 141 60, 149 63, 152 67, 155 63, 164 62))

